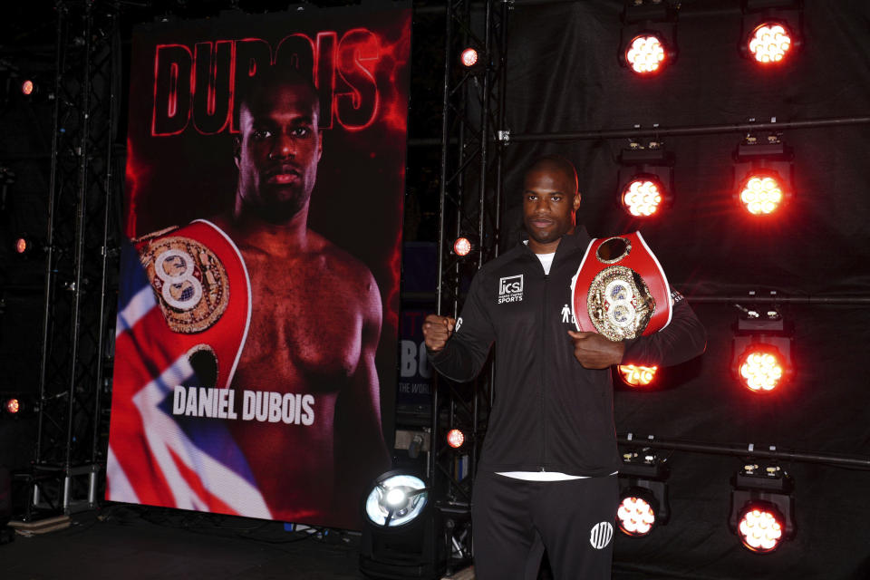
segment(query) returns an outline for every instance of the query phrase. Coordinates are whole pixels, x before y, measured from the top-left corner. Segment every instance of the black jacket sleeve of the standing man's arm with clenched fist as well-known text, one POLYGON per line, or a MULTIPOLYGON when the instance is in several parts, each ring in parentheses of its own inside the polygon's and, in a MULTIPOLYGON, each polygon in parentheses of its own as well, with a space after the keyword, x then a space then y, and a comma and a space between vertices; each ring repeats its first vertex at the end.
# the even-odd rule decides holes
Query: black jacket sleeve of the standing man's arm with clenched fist
POLYGON ((428 352, 435 370, 452 381, 467 382, 478 376, 496 340, 495 328, 483 308, 482 277, 478 273, 471 281, 453 336, 438 353, 428 352))

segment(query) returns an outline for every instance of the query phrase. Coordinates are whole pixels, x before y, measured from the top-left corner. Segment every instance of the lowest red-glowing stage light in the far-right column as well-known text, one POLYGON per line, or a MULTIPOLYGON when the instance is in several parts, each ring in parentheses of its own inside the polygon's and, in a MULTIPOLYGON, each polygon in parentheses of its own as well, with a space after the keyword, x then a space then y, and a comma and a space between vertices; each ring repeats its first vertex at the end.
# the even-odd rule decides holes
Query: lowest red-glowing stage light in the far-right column
POLYGON ((776 463, 747 463, 733 479, 729 526, 752 552, 773 552, 795 536, 792 478, 776 463))

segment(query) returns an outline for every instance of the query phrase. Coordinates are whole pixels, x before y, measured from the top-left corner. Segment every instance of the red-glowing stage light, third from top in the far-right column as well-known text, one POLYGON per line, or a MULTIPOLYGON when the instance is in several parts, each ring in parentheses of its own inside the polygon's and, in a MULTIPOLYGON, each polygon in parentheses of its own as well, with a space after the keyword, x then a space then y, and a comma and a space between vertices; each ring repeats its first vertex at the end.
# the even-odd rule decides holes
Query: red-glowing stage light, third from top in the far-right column
POLYGON ((749 391, 774 391, 788 382, 792 373, 794 329, 776 305, 735 306, 740 312, 734 328, 731 372, 749 391))

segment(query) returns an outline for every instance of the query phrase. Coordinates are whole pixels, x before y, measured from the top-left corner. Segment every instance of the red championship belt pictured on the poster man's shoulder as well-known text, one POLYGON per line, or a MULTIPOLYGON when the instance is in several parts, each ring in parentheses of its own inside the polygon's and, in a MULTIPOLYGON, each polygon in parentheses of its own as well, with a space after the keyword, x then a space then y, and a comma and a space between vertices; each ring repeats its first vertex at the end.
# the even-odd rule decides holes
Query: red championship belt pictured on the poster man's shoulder
POLYGON ((142 237, 136 249, 169 327, 162 338, 188 353, 203 383, 197 386, 227 388, 251 319, 251 283, 238 247, 197 219, 142 237))

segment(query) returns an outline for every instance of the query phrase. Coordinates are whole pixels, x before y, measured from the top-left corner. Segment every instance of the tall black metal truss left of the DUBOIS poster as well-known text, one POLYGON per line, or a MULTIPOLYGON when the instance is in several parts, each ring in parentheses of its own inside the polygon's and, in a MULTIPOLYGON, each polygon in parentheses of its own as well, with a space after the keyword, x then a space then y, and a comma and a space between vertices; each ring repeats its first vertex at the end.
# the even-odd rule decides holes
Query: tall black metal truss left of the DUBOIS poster
POLYGON ((32 510, 94 507, 105 465, 112 144, 120 80, 113 3, 60 0, 32 510))

